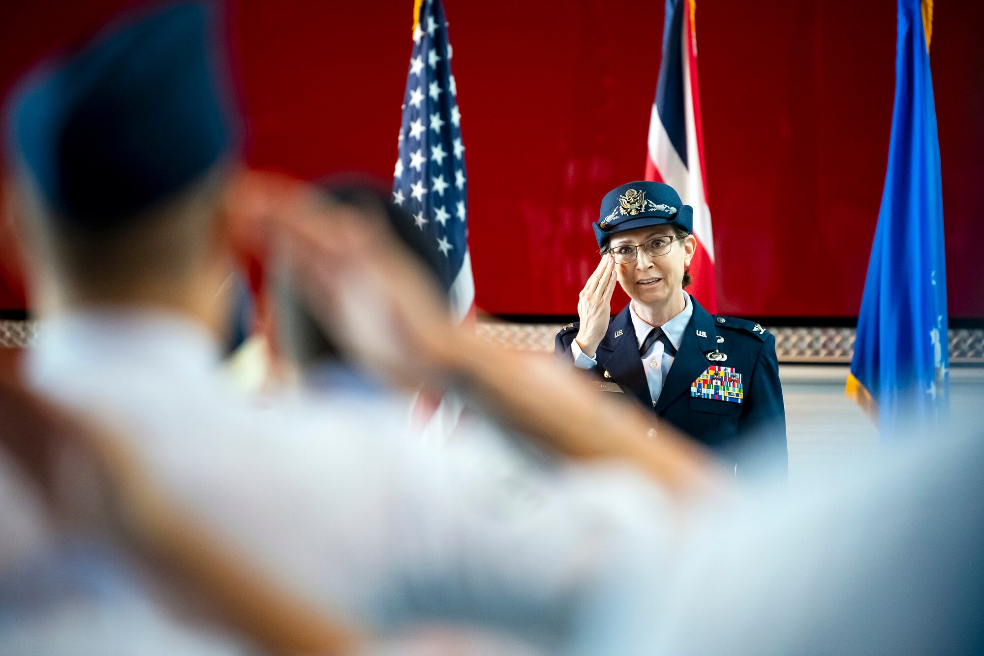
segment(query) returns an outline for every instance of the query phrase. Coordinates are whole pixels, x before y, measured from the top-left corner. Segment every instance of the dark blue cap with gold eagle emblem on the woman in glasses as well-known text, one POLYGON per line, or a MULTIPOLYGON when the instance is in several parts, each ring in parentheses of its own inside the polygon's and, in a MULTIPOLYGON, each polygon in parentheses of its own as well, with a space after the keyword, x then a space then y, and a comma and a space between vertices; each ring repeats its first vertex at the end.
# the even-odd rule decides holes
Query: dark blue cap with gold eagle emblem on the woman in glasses
POLYGON ((694 208, 684 205, 670 185, 643 180, 623 184, 605 194, 601 217, 591 228, 600 248, 616 232, 666 225, 693 232, 694 208))

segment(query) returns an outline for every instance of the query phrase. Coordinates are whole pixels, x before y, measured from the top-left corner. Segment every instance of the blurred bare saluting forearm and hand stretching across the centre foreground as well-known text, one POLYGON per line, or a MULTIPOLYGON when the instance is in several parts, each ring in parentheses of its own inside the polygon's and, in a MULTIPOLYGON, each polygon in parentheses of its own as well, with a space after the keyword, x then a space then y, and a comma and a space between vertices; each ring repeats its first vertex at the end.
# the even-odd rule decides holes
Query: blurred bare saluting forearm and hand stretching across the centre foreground
MULTIPOLYGON (((727 489, 710 456, 672 426, 646 437, 653 418, 635 404, 598 395, 552 360, 496 349, 455 325, 382 217, 302 205, 271 217, 294 284, 350 356, 403 386, 456 384, 501 423, 575 458, 632 462, 668 492, 727 489)), ((599 266, 598 278, 613 276, 612 267, 599 266)), ((595 289, 599 300, 612 285, 595 289)))

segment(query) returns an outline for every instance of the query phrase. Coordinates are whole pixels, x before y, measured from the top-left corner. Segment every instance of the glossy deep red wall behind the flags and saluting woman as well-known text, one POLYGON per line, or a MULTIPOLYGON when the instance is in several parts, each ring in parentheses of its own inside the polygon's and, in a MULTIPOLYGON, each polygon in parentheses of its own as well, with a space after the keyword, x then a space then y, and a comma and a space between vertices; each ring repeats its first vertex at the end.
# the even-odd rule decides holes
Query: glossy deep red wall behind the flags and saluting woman
MULTIPOLYGON (((5 7, 0 89, 133 3, 5 7)), ((572 314, 601 196, 643 177, 662 4, 446 0, 478 305, 572 314)), ((226 4, 250 164, 392 175, 411 0, 226 4)), ((950 309, 984 317, 984 5, 938 2, 931 62, 950 309)), ((857 313, 888 158, 891 0, 700 0, 708 198, 722 313, 857 313)), ((0 308, 23 306, 0 232, 0 308)))

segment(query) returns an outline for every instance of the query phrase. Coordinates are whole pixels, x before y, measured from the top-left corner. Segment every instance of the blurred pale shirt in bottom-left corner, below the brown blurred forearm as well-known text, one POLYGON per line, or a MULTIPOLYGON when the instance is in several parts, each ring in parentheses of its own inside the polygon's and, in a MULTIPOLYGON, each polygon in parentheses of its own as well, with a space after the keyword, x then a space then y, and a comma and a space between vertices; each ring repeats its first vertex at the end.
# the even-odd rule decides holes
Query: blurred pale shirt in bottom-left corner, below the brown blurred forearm
POLYGON ((92 535, 52 525, 0 448, 0 656, 256 653, 207 622, 175 617, 146 574, 92 535))

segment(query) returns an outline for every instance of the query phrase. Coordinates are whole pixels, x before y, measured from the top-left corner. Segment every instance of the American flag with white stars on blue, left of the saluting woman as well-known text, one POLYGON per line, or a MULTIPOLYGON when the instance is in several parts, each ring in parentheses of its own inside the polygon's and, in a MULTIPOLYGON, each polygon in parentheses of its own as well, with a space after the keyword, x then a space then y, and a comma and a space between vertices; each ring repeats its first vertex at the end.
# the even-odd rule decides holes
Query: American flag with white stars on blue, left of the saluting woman
POLYGON ((441 0, 417 0, 393 200, 413 215, 417 228, 444 255, 442 283, 462 320, 471 312, 475 288, 468 255, 461 111, 451 57, 441 0))

